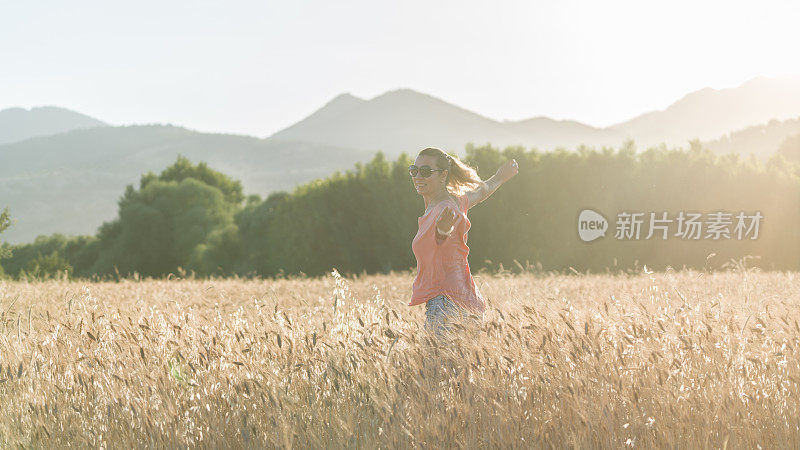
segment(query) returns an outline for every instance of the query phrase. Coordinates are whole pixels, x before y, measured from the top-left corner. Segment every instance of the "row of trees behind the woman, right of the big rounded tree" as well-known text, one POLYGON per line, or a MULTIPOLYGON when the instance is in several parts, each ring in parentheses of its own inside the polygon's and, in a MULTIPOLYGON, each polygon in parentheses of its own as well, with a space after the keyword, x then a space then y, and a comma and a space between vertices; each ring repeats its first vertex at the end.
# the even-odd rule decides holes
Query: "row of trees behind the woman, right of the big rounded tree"
MULTIPOLYGON (((647 264, 706 267, 716 261, 758 255, 764 267, 797 268, 800 234, 800 165, 774 158, 767 165, 752 158, 718 156, 699 141, 688 150, 650 147, 637 151, 633 141, 621 148, 539 153, 522 147, 502 151, 490 145, 467 146, 467 163, 486 179, 510 158, 519 162, 519 176, 492 198, 469 212, 470 266, 474 270, 502 263, 541 263, 544 270, 601 271, 647 264), (765 199, 769 199, 768 201, 765 199), (576 217, 592 208, 606 215, 605 238, 585 243, 577 237, 576 217), (650 213, 676 221, 679 212, 726 211, 763 217, 758 239, 697 240, 647 237, 650 213), (638 239, 617 239, 617 214, 641 212, 638 239), (764 228, 769 224, 768 228, 764 228)), ((250 206, 237 222, 241 246, 263 275, 284 270, 320 275, 336 267, 342 273, 374 273, 413 268, 410 244, 422 212, 402 155, 389 164, 382 154, 356 164, 345 174, 299 186, 280 202, 250 206), (250 253, 258 249, 257 253, 250 253)), ((750 223, 744 223, 745 226, 750 223)), ((731 224, 731 231, 734 230, 731 224)), ((752 232, 752 230, 751 230, 752 232)))

